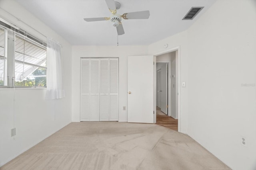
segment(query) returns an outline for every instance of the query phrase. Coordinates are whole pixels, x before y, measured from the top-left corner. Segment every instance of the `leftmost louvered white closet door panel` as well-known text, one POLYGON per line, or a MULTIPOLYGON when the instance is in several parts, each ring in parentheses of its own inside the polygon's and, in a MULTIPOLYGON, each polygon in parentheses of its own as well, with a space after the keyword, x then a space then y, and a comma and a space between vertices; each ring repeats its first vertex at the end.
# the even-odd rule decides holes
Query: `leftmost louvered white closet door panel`
POLYGON ((81 59, 81 121, 90 121, 90 59, 81 59))

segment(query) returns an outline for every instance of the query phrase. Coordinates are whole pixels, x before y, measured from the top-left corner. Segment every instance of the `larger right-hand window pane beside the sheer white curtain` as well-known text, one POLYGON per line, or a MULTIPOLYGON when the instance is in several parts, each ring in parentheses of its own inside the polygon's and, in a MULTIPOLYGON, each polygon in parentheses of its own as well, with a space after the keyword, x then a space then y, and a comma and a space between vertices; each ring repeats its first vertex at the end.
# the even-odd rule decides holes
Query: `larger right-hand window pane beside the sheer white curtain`
POLYGON ((46 48, 15 37, 15 86, 46 86, 46 48))

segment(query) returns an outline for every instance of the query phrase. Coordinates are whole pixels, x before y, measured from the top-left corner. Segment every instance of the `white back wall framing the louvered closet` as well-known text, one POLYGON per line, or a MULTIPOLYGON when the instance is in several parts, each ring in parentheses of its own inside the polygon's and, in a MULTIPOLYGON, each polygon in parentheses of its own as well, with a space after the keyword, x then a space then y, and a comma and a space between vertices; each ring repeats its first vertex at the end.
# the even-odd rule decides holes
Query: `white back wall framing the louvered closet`
POLYGON ((80 58, 119 57, 119 121, 127 121, 127 57, 147 55, 148 46, 73 46, 72 121, 80 121, 80 58), (123 110, 126 106, 126 110, 123 110))

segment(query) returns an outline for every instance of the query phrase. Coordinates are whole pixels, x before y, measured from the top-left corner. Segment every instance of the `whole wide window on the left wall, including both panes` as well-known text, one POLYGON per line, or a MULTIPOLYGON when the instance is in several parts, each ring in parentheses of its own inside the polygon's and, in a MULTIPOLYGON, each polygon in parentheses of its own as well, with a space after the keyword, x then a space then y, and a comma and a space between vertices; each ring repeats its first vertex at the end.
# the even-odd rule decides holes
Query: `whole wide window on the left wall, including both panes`
POLYGON ((46 71, 46 43, 0 21, 0 87, 46 87, 46 71))

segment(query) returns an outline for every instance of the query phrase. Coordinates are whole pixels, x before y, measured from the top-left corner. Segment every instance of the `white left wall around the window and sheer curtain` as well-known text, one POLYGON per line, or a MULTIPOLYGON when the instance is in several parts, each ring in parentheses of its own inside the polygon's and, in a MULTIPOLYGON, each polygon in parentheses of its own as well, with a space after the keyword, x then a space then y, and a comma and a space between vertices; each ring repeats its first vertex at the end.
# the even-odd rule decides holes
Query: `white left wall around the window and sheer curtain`
MULTIPOLYGON (((20 18, 63 47, 66 98, 44 100, 46 89, 0 89, 0 166, 36 145, 71 122, 71 45, 12 0, 1 0, 0 8, 20 18), (16 136, 11 129, 16 127, 16 136)), ((45 39, 36 31, 0 9, 0 17, 45 39)))

